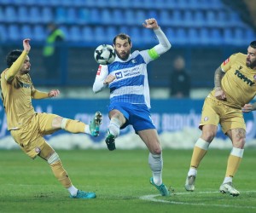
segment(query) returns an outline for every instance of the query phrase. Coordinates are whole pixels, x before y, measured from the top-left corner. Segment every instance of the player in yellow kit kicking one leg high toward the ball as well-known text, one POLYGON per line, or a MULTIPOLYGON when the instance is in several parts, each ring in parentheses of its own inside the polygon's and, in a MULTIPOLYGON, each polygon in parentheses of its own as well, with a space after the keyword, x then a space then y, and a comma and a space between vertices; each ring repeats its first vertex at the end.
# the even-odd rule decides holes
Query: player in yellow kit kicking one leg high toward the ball
POLYGON ((34 88, 29 75, 31 67, 28 57, 31 49, 29 41, 30 39, 23 40, 23 51, 16 49, 7 55, 8 68, 1 73, 1 95, 7 115, 8 130, 15 142, 30 158, 39 156, 48 162, 55 177, 67 188, 70 198, 94 199, 95 193, 84 192, 73 186, 61 164, 61 159, 43 136, 61 129, 71 133, 97 136, 102 114, 96 112, 93 121, 90 124, 84 124, 55 114, 35 112, 32 99, 51 98, 59 95, 60 92, 53 89, 45 93, 34 88))

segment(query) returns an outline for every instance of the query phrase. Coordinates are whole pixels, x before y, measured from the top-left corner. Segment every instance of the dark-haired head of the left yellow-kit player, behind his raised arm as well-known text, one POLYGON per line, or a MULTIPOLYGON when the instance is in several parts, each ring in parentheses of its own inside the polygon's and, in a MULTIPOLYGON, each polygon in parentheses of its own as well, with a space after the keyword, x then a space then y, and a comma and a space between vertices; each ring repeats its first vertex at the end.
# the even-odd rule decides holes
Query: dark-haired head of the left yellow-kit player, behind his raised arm
MULTIPOLYGON (((22 54, 22 50, 15 49, 9 52, 9 54, 6 56, 6 63, 7 66, 10 67, 13 65, 13 63, 20 57, 22 54)), ((24 60, 23 65, 20 67, 20 72, 22 74, 26 74, 30 71, 30 60, 29 57, 26 55, 26 59, 24 60)))

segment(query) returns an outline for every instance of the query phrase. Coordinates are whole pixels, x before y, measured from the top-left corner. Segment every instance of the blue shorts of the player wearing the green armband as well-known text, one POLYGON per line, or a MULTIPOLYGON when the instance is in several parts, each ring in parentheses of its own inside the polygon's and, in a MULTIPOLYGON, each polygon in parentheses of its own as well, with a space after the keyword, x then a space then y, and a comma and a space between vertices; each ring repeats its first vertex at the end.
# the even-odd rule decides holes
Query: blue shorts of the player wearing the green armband
POLYGON ((121 130, 129 124, 137 131, 155 129, 148 107, 145 104, 131 104, 126 102, 114 102, 108 107, 108 112, 119 110, 126 118, 121 130))

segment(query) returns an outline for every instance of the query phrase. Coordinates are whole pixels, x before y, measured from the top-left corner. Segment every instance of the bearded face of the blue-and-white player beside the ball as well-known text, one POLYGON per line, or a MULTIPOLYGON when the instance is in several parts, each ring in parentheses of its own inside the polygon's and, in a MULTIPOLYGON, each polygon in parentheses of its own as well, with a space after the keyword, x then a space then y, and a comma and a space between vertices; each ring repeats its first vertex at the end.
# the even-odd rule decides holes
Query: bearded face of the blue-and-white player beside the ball
POLYGON ((115 40, 114 45, 115 53, 118 55, 119 59, 127 60, 131 53, 131 45, 128 42, 128 39, 122 40, 119 37, 115 40))

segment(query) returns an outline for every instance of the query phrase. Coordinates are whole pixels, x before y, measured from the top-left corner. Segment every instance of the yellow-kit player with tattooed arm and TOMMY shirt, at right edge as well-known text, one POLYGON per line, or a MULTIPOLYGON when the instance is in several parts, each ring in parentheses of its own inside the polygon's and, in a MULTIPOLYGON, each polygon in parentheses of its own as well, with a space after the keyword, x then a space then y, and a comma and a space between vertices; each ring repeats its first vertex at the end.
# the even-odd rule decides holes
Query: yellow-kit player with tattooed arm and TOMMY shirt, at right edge
POLYGON ((250 43, 247 55, 231 55, 214 74, 215 88, 207 96, 201 114, 201 137, 196 141, 190 169, 185 183, 187 191, 195 190, 195 177, 202 158, 217 133, 218 124, 232 141, 226 174, 221 193, 238 196, 232 179, 241 163, 246 139, 246 124, 242 112, 256 110, 256 103, 249 104, 256 95, 256 41, 250 43))

